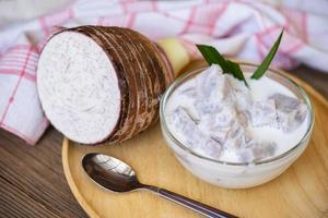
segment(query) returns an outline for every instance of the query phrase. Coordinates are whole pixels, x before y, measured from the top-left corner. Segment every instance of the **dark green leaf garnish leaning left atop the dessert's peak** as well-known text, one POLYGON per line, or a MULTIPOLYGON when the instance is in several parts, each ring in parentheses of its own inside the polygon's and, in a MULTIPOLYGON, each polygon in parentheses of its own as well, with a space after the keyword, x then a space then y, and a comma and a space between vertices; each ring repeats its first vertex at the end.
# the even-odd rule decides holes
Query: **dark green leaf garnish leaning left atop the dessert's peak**
POLYGON ((241 70, 241 66, 230 60, 225 60, 223 56, 212 46, 207 45, 196 45, 198 50, 201 52, 206 61, 211 65, 216 63, 222 69, 223 73, 232 74, 235 78, 244 81, 245 85, 248 87, 248 84, 245 80, 245 76, 241 70))

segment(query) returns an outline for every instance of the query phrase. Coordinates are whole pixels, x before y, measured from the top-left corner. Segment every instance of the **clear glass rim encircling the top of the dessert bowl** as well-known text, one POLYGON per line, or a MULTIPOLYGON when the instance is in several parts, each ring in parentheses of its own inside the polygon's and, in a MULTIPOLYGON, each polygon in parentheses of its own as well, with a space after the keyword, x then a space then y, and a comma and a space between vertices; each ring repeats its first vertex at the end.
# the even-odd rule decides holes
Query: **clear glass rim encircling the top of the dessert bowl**
MULTIPOLYGON (((255 63, 247 63, 247 62, 238 62, 238 63, 241 64, 241 66, 258 66, 258 64, 255 64, 255 63)), ((314 121, 315 121, 314 107, 313 107, 313 104, 312 104, 312 100, 311 100, 309 96, 307 95, 307 93, 305 92, 304 88, 298 86, 292 78, 284 75, 283 71, 274 69, 274 68, 269 68, 268 71, 270 71, 271 73, 278 74, 280 77, 285 80, 289 84, 294 86, 294 88, 301 94, 301 96, 303 98, 303 101, 306 104, 307 108, 309 109, 309 112, 308 112, 308 114, 309 114, 309 124, 307 126, 307 130, 306 130, 304 136, 301 138, 301 141, 298 143, 296 143, 296 145, 292 146, 289 150, 278 155, 278 156, 273 156, 273 157, 270 157, 270 158, 267 158, 267 159, 263 159, 263 160, 247 161, 247 162, 223 161, 223 160, 210 158, 210 157, 203 156, 203 155, 190 149, 189 147, 185 146, 181 142, 179 142, 174 136, 174 134, 171 133, 171 131, 169 131, 169 129, 166 124, 166 120, 165 120, 165 116, 164 116, 166 102, 167 102, 171 94, 173 93, 173 90, 176 87, 178 87, 185 81, 185 78, 187 78, 188 76, 190 76, 192 74, 200 73, 201 71, 199 72, 199 70, 201 70, 201 69, 204 70, 206 68, 209 68, 209 65, 202 64, 202 65, 196 66, 196 68, 187 71, 186 73, 181 74, 180 76, 178 76, 169 85, 169 87, 161 96, 161 100, 160 100, 160 122, 161 122, 162 131, 165 131, 164 134, 166 134, 183 150, 189 153, 192 156, 196 156, 196 157, 201 158, 203 160, 208 160, 208 161, 215 162, 215 164, 227 165, 227 166, 249 166, 249 165, 259 166, 259 165, 271 164, 271 162, 274 162, 276 160, 280 160, 280 159, 283 159, 286 156, 292 155, 294 150, 297 150, 297 148, 302 147, 302 145, 308 140, 308 137, 312 134, 312 131, 313 131, 313 128, 314 128, 314 121)))

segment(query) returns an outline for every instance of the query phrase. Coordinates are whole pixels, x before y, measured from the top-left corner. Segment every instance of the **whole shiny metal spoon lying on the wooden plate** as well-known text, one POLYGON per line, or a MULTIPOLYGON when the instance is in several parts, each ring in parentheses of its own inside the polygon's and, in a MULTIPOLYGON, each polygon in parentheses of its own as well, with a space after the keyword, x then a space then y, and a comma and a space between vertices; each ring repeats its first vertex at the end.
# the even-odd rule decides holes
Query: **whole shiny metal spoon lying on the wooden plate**
POLYGON ((138 181, 133 169, 124 161, 103 154, 87 154, 82 159, 82 166, 89 177, 98 185, 114 192, 130 192, 148 190, 161 197, 190 208, 207 217, 235 218, 236 216, 178 195, 171 191, 138 181))

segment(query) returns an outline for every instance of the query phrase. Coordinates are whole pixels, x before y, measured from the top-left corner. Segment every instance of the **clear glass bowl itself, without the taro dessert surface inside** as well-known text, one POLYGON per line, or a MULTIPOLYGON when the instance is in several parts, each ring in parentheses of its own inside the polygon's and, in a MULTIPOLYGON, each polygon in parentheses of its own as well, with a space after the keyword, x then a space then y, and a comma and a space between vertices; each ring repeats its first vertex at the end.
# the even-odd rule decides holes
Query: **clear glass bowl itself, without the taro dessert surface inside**
MULTIPOLYGON (((181 75, 167 88, 162 96, 160 118, 163 136, 167 145, 186 169, 188 169, 196 177, 214 185, 231 189, 243 189, 256 186, 277 178, 296 160, 296 158, 305 150, 308 144, 314 126, 314 109, 308 95, 302 87, 288 78, 285 75, 274 70, 268 70, 266 73, 267 76, 288 87, 298 99, 303 100, 307 105, 308 126, 305 135, 288 152, 266 160, 255 162, 227 162, 212 159, 192 152, 186 145, 180 143, 169 131, 165 119, 166 102, 172 93, 184 82, 195 77, 198 73, 204 71, 207 68, 208 66, 200 66, 181 75)), ((243 72, 254 72, 257 65, 242 63, 241 68, 243 72)))

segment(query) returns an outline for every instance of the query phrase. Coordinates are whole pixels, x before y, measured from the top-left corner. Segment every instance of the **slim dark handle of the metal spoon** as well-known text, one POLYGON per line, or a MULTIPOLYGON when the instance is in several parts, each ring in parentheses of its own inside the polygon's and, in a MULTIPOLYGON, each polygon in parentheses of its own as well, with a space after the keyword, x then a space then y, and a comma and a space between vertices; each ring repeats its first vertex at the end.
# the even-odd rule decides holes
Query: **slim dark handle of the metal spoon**
POLYGON ((157 189, 157 194, 161 197, 164 197, 166 199, 169 199, 176 204, 179 204, 181 206, 188 207, 192 209, 194 211, 197 211, 206 217, 215 217, 215 218, 237 218, 234 215, 227 214, 225 211, 222 211, 220 209, 216 209, 214 207, 211 207, 209 205, 202 204, 200 202, 190 199, 188 197, 185 197, 183 195, 176 194, 174 192, 171 192, 168 190, 164 189, 157 189))

